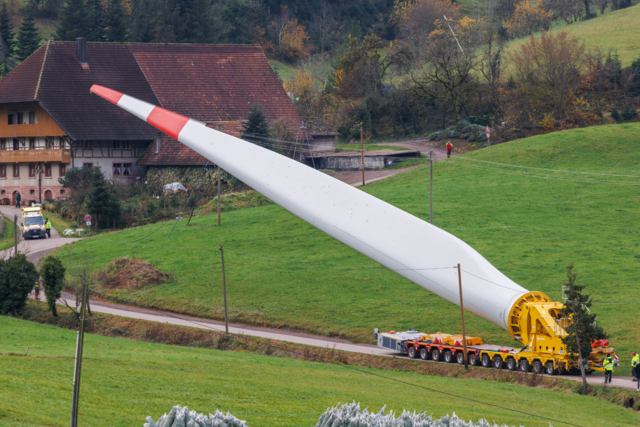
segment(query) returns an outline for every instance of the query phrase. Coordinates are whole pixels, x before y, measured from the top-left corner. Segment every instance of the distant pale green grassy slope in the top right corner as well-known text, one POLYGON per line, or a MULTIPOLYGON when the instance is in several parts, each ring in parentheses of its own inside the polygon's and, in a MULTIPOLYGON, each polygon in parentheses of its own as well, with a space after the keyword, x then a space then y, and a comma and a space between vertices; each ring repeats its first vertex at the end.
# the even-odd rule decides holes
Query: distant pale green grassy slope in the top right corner
MULTIPOLYGON (((640 58, 640 4, 627 9, 607 12, 588 21, 565 25, 557 21, 550 32, 567 31, 584 42, 587 49, 600 46, 604 51, 617 50, 622 65, 627 67, 640 58)), ((507 52, 512 52, 529 37, 509 43, 507 52)))

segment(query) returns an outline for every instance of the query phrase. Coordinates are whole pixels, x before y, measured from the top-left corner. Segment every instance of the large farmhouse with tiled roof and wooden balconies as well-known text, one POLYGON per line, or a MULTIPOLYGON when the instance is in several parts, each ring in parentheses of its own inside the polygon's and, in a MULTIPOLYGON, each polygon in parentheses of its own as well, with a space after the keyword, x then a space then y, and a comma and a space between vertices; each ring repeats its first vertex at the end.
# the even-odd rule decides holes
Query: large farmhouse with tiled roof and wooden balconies
POLYGON ((89 93, 98 84, 238 136, 252 104, 301 119, 259 46, 49 41, 0 80, 0 203, 64 198, 68 168, 134 184, 147 168, 205 159, 89 93))

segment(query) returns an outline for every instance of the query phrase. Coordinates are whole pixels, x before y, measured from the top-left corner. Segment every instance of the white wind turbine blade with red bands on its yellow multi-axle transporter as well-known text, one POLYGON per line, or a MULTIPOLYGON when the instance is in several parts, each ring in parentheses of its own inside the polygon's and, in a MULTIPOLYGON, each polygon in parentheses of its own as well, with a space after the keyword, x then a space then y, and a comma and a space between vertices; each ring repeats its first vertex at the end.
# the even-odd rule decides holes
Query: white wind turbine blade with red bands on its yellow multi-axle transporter
MULTIPOLYGON (((100 76, 94 78, 101 83, 100 76)), ((473 355, 476 363, 490 360, 492 366, 499 367, 517 363, 523 370, 540 370, 542 366, 552 372, 574 368, 574 358, 566 354, 561 341, 571 321, 561 317, 561 304, 542 292, 530 292, 518 285, 452 234, 329 175, 205 123, 97 84, 91 91, 177 139, 358 252, 447 301, 463 302, 465 309, 506 329, 524 346, 515 350, 473 344, 469 356, 473 355), (464 292, 459 274, 465 276, 464 292)), ((284 91, 280 95, 286 97, 284 91)), ((99 107, 105 113, 118 114, 106 103, 99 107)), ((459 357, 461 350, 455 345, 438 347, 421 340, 417 333, 413 335, 413 340, 401 340, 395 350, 424 353, 426 358, 436 355, 436 360, 440 355, 453 360, 459 357)), ((393 340, 394 336, 379 334, 378 339, 393 340)), ((602 357, 611 351, 594 349, 589 369, 601 369, 602 357)))

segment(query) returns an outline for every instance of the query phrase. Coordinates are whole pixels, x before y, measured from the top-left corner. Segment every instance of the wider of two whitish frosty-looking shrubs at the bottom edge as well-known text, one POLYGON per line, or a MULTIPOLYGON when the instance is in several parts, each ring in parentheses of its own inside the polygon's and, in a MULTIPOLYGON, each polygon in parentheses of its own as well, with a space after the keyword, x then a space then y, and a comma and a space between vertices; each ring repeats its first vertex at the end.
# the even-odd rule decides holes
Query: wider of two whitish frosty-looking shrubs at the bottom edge
MULTIPOLYGON (((454 413, 453 416, 446 415, 440 419, 434 420, 431 415, 426 412, 416 413, 402 411, 402 415, 398 418, 392 411, 384 414, 384 407, 378 413, 369 412, 367 409, 360 410, 359 403, 349 403, 340 406, 334 406, 327 409, 320 416, 316 427, 332 427, 332 426, 357 426, 357 427, 498 427, 495 423, 490 424, 487 420, 479 420, 477 423, 472 421, 465 422, 458 418, 454 413)), ((503 425, 502 427, 507 427, 503 425)))

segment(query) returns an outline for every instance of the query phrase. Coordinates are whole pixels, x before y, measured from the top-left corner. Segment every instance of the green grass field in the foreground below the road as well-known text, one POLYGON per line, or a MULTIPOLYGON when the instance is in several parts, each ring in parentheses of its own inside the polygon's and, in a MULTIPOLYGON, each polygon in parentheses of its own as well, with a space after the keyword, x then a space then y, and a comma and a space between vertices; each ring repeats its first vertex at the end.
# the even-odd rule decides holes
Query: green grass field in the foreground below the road
MULTIPOLYGON (((75 338, 74 331, 0 316, 1 426, 69 423, 75 338)), ((313 426, 327 407, 353 400, 376 411, 387 405, 436 417, 455 411, 466 419, 549 425, 344 367, 280 357, 87 335, 82 366, 84 426, 141 426, 146 416, 158 419, 176 404, 205 413, 230 411, 251 427, 313 426)), ((640 423, 633 410, 574 393, 528 388, 525 399, 523 387, 514 384, 365 371, 581 426, 640 423)))

